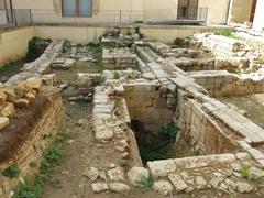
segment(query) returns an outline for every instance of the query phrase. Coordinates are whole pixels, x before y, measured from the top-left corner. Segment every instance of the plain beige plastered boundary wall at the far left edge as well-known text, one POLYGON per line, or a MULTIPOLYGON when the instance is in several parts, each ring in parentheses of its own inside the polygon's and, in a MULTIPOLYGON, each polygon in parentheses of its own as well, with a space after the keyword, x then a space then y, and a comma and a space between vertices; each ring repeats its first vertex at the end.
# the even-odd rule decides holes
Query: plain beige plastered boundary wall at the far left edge
POLYGON ((0 33, 0 66, 24 57, 28 52, 28 42, 34 35, 33 26, 0 33))

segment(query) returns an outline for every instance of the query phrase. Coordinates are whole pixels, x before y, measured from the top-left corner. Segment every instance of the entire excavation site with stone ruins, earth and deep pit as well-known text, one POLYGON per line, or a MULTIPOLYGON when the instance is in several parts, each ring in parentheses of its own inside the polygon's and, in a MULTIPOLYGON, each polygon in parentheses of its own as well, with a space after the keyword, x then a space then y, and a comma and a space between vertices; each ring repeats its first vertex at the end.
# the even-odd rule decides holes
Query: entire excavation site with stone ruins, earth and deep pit
POLYGON ((38 32, 0 69, 0 197, 264 197, 264 42, 143 32, 38 32))

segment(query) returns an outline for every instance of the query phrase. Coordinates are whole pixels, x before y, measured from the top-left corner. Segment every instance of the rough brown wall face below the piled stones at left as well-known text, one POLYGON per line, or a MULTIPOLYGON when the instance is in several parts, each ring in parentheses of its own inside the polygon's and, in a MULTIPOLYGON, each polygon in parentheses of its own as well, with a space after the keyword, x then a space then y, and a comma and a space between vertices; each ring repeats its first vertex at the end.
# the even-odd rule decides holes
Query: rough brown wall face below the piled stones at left
MULTIPOLYGON (((43 157, 43 151, 52 143, 53 139, 43 139, 45 135, 56 136, 64 123, 64 107, 59 95, 59 90, 54 87, 43 87, 42 95, 50 98, 50 103, 45 107, 41 119, 34 123, 34 127, 29 132, 29 136, 23 144, 15 151, 8 162, 0 164, 0 172, 12 164, 18 164, 22 169, 18 178, 7 178, 0 175, 0 191, 3 197, 9 197, 9 194, 18 185, 22 178, 33 176, 37 173, 43 157), (35 162, 36 168, 32 169, 29 164, 35 162)), ((23 129, 22 129, 23 130, 23 129)))

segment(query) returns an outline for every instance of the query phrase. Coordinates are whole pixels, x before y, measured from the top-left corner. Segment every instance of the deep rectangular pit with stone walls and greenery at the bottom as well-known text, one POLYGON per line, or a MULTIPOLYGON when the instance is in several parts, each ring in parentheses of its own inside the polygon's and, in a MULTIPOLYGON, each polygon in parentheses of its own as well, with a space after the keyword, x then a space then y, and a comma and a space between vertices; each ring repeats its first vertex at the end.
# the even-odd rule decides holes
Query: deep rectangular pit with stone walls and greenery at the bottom
POLYGON ((143 164, 241 151, 233 139, 229 139, 231 131, 224 133, 228 129, 216 123, 195 100, 186 100, 180 90, 173 96, 177 101, 172 106, 172 98, 163 95, 156 84, 132 82, 123 87, 143 164))

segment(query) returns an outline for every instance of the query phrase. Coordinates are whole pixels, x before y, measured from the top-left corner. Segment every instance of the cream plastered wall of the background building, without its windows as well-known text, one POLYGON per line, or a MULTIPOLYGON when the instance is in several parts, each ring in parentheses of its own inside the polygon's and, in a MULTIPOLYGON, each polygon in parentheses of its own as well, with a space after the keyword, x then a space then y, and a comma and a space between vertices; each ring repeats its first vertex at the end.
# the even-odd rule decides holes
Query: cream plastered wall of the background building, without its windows
MULTIPOLYGON (((227 22, 229 0, 199 0, 199 8, 208 8, 208 24, 227 22)), ((92 18, 63 18, 62 0, 13 0, 14 9, 33 9, 35 23, 112 22, 119 23, 119 11, 124 22, 143 20, 175 20, 178 0, 94 0, 92 18), (100 12, 101 11, 101 12, 100 12), (132 11, 132 12, 131 12, 132 11), (145 11, 145 14, 143 14, 145 11)))

